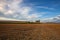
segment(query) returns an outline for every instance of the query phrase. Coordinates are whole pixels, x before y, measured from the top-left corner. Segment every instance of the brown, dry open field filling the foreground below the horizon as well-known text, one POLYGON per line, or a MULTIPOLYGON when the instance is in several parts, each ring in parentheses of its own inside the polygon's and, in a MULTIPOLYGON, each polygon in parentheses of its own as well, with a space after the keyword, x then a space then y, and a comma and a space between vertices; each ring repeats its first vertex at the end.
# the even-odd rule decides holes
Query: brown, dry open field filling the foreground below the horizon
POLYGON ((60 40, 60 24, 0 24, 0 40, 60 40))

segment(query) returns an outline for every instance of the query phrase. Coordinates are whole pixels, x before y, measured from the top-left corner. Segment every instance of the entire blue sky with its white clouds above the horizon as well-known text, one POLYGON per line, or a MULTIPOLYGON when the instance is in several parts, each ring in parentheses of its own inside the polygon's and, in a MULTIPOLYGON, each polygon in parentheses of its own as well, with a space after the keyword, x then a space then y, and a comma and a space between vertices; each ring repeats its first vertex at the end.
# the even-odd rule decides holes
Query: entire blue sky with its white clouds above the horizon
POLYGON ((0 0, 0 20, 60 22, 60 0, 0 0))

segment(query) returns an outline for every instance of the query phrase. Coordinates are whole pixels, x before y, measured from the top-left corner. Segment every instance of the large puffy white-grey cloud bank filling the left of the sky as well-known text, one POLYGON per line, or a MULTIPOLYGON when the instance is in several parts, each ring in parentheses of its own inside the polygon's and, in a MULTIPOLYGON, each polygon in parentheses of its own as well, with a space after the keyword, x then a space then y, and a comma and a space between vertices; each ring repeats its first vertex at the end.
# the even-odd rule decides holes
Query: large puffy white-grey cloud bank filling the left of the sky
POLYGON ((30 12, 32 8, 22 6, 23 0, 0 0, 0 17, 18 19, 18 20, 35 20, 38 14, 30 12))

